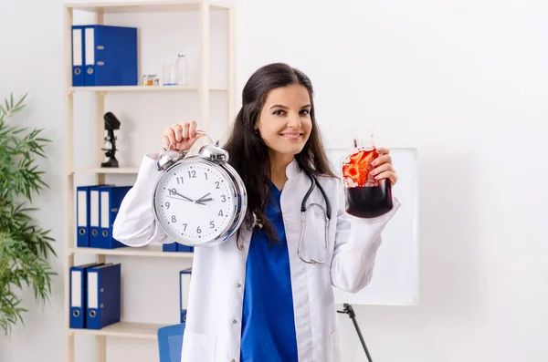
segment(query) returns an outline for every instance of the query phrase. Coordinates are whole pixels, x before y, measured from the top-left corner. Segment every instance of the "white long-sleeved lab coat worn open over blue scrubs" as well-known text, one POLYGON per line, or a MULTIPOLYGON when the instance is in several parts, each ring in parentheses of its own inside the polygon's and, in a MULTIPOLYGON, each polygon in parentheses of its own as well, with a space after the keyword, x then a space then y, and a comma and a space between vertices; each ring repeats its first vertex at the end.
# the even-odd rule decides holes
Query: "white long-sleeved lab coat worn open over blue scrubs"
MULTIPOLYGON (((153 186, 161 173, 155 166, 156 156, 153 153, 143 157, 137 181, 121 202, 113 230, 113 236, 121 243, 142 246, 168 242, 155 222, 152 209, 153 186)), ((332 286, 355 293, 369 283, 381 232, 400 203, 394 197, 394 208, 385 215, 355 218, 344 212, 341 181, 318 177, 332 204, 328 261, 305 264, 297 254, 300 202, 311 181, 295 160, 287 167, 286 174, 288 181, 280 204, 290 253, 299 361, 341 362, 339 320, 332 286)), ((311 193, 310 202, 324 205, 318 188, 311 193)), ((301 254, 306 253, 308 245, 319 247, 313 243, 317 241, 315 233, 320 233, 315 230, 315 223, 307 222, 301 254)), ((225 243, 195 248, 182 362, 239 361, 246 260, 252 234, 245 227, 241 231, 238 243, 235 234, 225 243)), ((314 255, 318 253, 318 249, 313 250, 314 255)))

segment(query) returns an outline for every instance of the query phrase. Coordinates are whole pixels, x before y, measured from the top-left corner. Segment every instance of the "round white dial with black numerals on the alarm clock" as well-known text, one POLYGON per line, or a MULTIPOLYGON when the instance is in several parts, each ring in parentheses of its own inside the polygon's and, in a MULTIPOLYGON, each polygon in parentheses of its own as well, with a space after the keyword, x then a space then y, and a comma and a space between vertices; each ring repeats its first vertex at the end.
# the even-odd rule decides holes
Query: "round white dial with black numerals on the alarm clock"
POLYGON ((163 230, 175 241, 200 244, 216 239, 235 213, 230 180, 215 166, 186 160, 156 185, 154 207, 163 230))

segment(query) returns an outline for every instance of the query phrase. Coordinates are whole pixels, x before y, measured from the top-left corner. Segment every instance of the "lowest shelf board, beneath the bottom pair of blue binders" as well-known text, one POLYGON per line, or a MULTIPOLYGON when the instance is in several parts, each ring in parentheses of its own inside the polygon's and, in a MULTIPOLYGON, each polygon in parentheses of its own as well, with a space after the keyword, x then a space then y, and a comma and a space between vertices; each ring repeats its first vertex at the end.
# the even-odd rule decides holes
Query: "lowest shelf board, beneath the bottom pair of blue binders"
POLYGON ((158 328, 168 325, 120 322, 101 329, 73 329, 70 333, 90 336, 121 336, 126 338, 157 339, 158 328))

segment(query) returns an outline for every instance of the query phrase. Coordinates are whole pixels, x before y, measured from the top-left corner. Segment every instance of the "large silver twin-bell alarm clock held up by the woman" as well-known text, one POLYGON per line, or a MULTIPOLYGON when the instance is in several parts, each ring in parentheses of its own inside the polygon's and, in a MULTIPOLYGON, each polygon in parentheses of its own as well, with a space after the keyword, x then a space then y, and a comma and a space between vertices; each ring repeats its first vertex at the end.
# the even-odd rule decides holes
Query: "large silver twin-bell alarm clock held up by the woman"
POLYGON ((248 209, 244 181, 230 166, 227 150, 211 142, 198 154, 165 150, 156 166, 153 213, 168 237, 187 246, 225 242, 236 233, 248 209))

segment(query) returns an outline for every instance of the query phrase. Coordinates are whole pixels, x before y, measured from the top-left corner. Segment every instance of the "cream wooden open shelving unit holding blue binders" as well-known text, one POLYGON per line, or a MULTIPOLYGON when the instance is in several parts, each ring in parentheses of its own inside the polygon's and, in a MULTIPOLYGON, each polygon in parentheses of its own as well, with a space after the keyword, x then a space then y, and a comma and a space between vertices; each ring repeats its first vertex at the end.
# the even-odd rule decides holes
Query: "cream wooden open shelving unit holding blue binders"
MULTIPOLYGON (((118 248, 113 250, 79 248, 76 246, 76 223, 74 211, 75 202, 75 174, 94 174, 97 183, 104 183, 107 174, 136 174, 138 168, 107 169, 100 168, 100 162, 104 159, 104 153, 100 150, 104 143, 104 121, 105 97, 109 93, 173 93, 173 92, 197 92, 200 101, 200 129, 209 129, 209 106, 210 92, 218 91, 227 94, 227 125, 235 117, 235 15, 230 5, 216 5, 207 0, 174 0, 174 1, 149 1, 142 3, 104 3, 104 4, 67 4, 64 6, 64 67, 65 67, 65 320, 64 324, 67 333, 67 361, 74 362, 78 352, 75 350, 74 336, 76 334, 95 336, 97 361, 106 362, 106 337, 126 337, 156 339, 156 331, 160 324, 133 323, 121 321, 120 323, 106 326, 100 330, 71 329, 69 328, 69 268, 74 265, 76 254, 94 255, 95 260, 104 263, 107 256, 117 257, 145 257, 145 258, 181 258, 189 259, 193 253, 165 253, 161 246, 145 246, 140 248, 118 248), (129 86, 129 87, 72 87, 72 62, 71 62, 71 26, 75 11, 92 12, 95 16, 94 24, 103 24, 104 15, 107 14, 129 14, 132 13, 155 13, 155 12, 198 12, 200 16, 201 36, 201 69, 199 84, 195 86, 129 86), (227 12, 227 87, 209 87, 209 47, 210 47, 210 15, 213 11, 227 12), (97 129, 98 145, 96 152, 95 168, 78 168, 74 164, 74 94, 77 92, 93 92, 95 94, 95 119, 97 129)), ((122 300, 122 303, 124 301, 122 300)), ((123 308, 122 308, 123 309, 123 308)))

